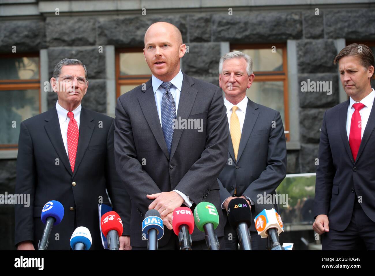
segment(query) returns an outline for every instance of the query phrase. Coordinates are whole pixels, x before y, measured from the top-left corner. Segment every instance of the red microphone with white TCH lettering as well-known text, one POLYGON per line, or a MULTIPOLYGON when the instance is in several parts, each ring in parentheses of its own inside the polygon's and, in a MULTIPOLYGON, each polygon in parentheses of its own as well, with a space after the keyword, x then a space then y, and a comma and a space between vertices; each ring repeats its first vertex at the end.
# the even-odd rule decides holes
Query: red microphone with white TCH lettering
POLYGON ((178 236, 180 250, 191 250, 191 234, 194 230, 194 216, 190 208, 178 207, 173 211, 172 226, 178 236))

